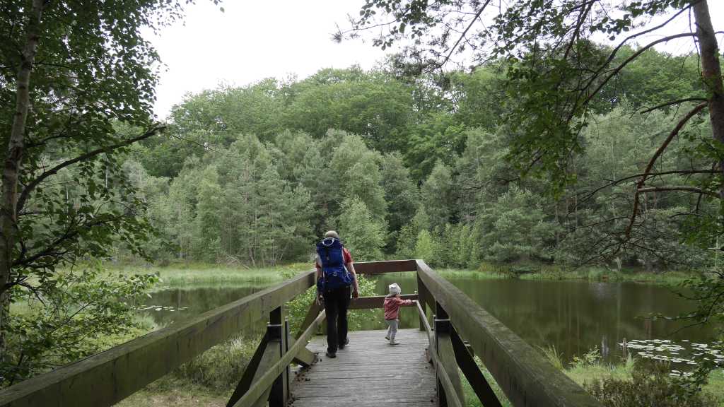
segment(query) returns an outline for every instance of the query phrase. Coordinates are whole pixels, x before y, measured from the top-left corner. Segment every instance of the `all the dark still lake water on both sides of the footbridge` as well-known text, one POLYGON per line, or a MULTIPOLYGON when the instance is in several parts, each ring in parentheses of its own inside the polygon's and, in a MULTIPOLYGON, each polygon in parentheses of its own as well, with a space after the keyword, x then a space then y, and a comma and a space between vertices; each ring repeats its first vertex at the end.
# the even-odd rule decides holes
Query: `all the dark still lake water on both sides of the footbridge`
MULTIPOLYGON (((710 343, 712 327, 687 328, 682 324, 644 318, 651 313, 675 316, 692 304, 668 288, 634 282, 532 281, 476 278, 468 273, 441 273, 490 314, 531 345, 555 346, 566 359, 597 346, 606 358, 621 355, 624 339, 664 340, 670 343, 710 343)), ((383 274, 376 278, 377 293, 397 282, 403 293, 416 291, 414 273, 383 274)), ((161 324, 188 319, 264 288, 192 288, 161 290, 147 301, 148 311, 161 324)), ((416 309, 403 309, 402 327, 417 327, 416 309)), ((366 329, 382 327, 379 321, 366 329)), ((263 324, 259 329, 263 329, 263 324)))

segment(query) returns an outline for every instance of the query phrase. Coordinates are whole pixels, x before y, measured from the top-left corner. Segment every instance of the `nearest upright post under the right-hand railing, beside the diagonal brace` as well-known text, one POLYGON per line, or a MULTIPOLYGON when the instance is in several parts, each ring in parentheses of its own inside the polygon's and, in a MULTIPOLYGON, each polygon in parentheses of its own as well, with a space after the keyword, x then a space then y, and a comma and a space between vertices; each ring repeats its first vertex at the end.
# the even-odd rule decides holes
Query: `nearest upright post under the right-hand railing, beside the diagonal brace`
MULTIPOLYGON (((458 393, 458 399, 461 403, 465 403, 465 395, 463 393, 463 384, 460 382, 460 374, 458 374, 458 362, 455 360, 455 351, 452 348, 452 340, 450 337, 452 331, 452 325, 450 325, 450 318, 447 316, 447 312, 442 308, 440 303, 435 301, 435 352, 439 358, 442 366, 437 366, 437 369, 445 369, 447 376, 450 377, 452 387, 455 387, 455 393, 458 393)), ((437 396, 439 398, 439 405, 441 407, 447 407, 447 395, 445 390, 442 388, 442 382, 439 380, 439 374, 437 379, 437 396)))

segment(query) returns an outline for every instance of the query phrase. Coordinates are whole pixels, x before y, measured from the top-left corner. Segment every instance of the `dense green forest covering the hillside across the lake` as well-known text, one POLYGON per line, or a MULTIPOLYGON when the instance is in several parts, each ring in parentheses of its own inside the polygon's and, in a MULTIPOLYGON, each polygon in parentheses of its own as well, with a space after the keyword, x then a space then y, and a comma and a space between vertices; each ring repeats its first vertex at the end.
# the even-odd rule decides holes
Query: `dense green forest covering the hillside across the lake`
MULTIPOLYGON (((576 182, 563 189, 506 161, 516 130, 505 116, 519 101, 502 72, 490 63, 411 76, 392 58, 369 72, 325 69, 188 95, 164 133, 132 146, 123 164, 157 231, 151 259, 304 260, 317 236, 337 229, 357 259, 420 257, 438 267, 661 270, 712 260, 681 245, 680 215, 698 198, 686 191, 647 194, 631 242, 613 258, 607 251, 610 230, 631 211, 627 177, 682 115, 678 105, 645 108, 702 92, 696 56, 651 49, 607 84, 581 130, 586 151, 571 158, 576 182)), ((696 180, 691 151, 707 133, 706 119, 692 120, 656 172, 696 180)), ((56 188, 70 201, 83 193, 56 188)))

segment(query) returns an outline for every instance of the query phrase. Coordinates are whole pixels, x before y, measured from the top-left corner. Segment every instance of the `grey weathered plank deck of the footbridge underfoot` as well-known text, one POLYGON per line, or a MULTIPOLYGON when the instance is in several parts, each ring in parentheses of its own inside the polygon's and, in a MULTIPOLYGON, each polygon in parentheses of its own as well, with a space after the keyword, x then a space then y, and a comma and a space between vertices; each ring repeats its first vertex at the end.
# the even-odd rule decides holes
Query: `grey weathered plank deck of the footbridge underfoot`
POLYGON ((434 367, 425 356, 426 333, 399 330, 396 346, 390 346, 384 334, 350 332, 349 345, 334 359, 324 356, 327 338, 314 337, 308 348, 320 361, 292 382, 291 406, 437 406, 434 367))

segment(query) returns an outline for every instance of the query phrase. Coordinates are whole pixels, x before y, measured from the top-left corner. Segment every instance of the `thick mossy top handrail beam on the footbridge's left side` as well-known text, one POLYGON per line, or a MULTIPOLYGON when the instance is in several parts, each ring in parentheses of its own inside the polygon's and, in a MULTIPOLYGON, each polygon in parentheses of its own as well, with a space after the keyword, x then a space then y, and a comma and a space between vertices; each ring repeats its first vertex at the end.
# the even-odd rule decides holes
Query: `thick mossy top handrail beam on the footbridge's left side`
POLYGON ((314 272, 0 392, 0 407, 107 407, 266 317, 314 284, 314 272))

